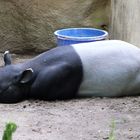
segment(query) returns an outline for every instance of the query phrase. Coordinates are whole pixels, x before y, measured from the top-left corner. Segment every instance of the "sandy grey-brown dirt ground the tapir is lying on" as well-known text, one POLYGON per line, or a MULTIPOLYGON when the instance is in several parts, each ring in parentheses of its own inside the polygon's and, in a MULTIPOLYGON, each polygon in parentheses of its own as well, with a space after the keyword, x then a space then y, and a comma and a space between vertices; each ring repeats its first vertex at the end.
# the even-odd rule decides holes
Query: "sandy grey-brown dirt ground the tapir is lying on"
POLYGON ((108 140, 112 121, 116 140, 140 140, 140 97, 0 104, 0 137, 15 122, 13 140, 108 140))

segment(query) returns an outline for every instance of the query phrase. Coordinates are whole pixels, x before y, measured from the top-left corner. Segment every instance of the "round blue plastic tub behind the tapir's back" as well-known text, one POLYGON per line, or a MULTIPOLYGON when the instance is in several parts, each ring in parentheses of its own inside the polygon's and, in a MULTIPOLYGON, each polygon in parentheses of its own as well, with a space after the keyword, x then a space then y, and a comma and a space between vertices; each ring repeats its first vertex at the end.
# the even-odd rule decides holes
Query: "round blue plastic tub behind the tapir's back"
POLYGON ((67 28, 54 32, 57 46, 101 41, 108 38, 108 32, 95 28, 67 28))

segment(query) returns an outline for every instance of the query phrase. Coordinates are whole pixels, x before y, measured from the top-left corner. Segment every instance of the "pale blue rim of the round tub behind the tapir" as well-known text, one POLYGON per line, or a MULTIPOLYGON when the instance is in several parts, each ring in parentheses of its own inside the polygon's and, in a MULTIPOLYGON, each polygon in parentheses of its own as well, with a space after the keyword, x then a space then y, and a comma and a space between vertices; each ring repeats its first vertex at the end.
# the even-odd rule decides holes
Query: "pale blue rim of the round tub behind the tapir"
POLYGON ((59 29, 54 32, 55 36, 57 36, 58 39, 64 39, 64 40, 75 40, 75 41, 92 41, 92 40, 102 40, 106 39, 108 37, 108 32, 102 29, 97 28, 65 28, 65 29, 59 29), (102 32, 102 35, 97 36, 91 36, 91 37, 73 37, 69 35, 61 35, 60 32, 62 31, 68 31, 68 30, 90 30, 90 31, 98 31, 102 32))

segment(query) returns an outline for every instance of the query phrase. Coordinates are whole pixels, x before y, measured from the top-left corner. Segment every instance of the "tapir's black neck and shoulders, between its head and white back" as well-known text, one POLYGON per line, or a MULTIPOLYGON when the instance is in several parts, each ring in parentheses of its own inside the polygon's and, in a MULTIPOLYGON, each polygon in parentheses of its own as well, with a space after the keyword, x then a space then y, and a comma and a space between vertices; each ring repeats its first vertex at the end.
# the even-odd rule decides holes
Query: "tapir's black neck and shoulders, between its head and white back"
POLYGON ((80 57, 71 46, 57 47, 28 63, 35 72, 30 98, 56 100, 76 96, 83 68, 80 57))

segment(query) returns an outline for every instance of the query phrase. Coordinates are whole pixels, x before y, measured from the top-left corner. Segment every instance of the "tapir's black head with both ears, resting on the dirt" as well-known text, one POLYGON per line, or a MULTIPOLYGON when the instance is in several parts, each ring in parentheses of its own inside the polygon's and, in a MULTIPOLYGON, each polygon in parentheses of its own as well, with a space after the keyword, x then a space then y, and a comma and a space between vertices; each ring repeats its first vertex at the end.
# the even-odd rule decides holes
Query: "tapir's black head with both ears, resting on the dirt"
POLYGON ((0 103, 19 102, 28 97, 33 70, 12 65, 8 52, 4 62, 5 66, 0 68, 0 103))

